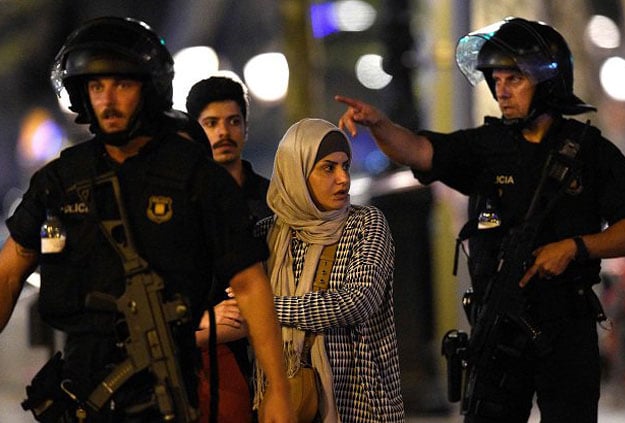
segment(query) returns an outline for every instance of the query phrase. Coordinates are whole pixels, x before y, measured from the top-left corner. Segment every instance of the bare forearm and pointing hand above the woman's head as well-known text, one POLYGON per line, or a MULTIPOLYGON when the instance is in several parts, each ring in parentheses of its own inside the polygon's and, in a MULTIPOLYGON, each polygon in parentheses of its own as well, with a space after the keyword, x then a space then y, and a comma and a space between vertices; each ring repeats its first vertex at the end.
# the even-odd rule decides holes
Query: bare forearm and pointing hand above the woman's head
POLYGON ((380 150, 391 160, 420 172, 432 169, 433 149, 428 138, 392 122, 370 104, 340 95, 334 99, 348 106, 339 119, 339 128, 355 136, 358 132, 356 124, 366 126, 371 130, 380 150))

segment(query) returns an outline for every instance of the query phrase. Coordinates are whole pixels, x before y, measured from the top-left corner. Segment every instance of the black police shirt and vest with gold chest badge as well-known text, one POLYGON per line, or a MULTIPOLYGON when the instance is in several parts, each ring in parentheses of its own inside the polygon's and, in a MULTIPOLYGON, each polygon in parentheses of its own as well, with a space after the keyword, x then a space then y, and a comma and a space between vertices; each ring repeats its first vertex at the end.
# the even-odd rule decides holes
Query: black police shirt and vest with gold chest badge
POLYGON ((115 199, 100 199, 91 210, 74 189, 107 172, 119 180, 138 253, 163 277, 167 295, 179 293, 191 305, 192 322, 177 333, 190 394, 198 364, 193 331, 206 309, 211 281, 225 284, 263 261, 266 246, 252 237, 245 201, 230 175, 207 160, 198 143, 173 130, 161 131, 122 164, 110 160, 97 137, 63 151, 33 176, 7 226, 19 244, 37 251, 46 213, 56 214, 65 226, 64 250, 41 255, 40 311, 67 334, 65 373, 79 395, 88 395, 125 356, 116 347, 123 335, 120 339, 115 313, 85 307, 90 292, 118 297, 125 288, 120 257, 97 221, 111 213, 115 199))

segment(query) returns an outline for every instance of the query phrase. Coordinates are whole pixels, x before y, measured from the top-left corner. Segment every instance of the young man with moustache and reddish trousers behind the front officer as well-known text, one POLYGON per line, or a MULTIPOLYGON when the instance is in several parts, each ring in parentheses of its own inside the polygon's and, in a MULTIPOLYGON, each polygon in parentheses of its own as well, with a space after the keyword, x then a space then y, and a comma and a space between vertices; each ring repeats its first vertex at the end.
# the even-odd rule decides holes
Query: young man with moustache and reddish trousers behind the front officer
MULTIPOLYGON (((254 172, 250 162, 241 158, 247 141, 249 96, 247 87, 238 79, 212 76, 197 82, 187 96, 187 112, 197 119, 208 138, 213 159, 222 165, 242 188, 250 211, 250 220, 256 222, 269 216, 267 188, 269 180, 254 172)), ((249 383, 252 363, 248 356, 247 331, 236 299, 221 291, 213 291, 217 324, 217 357, 219 369, 219 421, 244 423, 252 420, 252 401, 249 383)), ((208 314, 205 313, 196 333, 202 350, 204 374, 209 374, 208 314)), ((209 392, 209 383, 201 378, 200 396, 209 392)), ((204 415, 208 410, 202 410, 204 415)))

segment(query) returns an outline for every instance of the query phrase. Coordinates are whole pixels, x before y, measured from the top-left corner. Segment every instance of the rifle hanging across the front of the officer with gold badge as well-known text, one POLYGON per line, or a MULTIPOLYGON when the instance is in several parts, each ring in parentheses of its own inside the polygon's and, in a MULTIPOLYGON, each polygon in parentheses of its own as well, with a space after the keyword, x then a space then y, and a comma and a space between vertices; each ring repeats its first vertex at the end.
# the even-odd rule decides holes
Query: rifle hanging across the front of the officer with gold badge
MULTIPOLYGON (((87 404, 100 410, 111 396, 134 374, 148 370, 154 380, 154 402, 164 421, 193 422, 198 411, 190 404, 178 362, 171 325, 190 319, 190 310, 180 296, 163 301, 163 279, 138 255, 128 227, 119 181, 113 173, 101 175, 94 182, 78 185, 78 195, 95 210, 98 191, 112 189, 119 219, 98 219, 102 232, 122 259, 126 290, 115 298, 101 292, 87 296, 87 307, 118 311, 128 327, 126 360, 118 364, 87 398, 87 404), (91 195, 91 201, 89 196, 91 195), (120 239, 120 231, 122 236, 120 239)), ((111 198, 108 195, 106 198, 111 198)))

